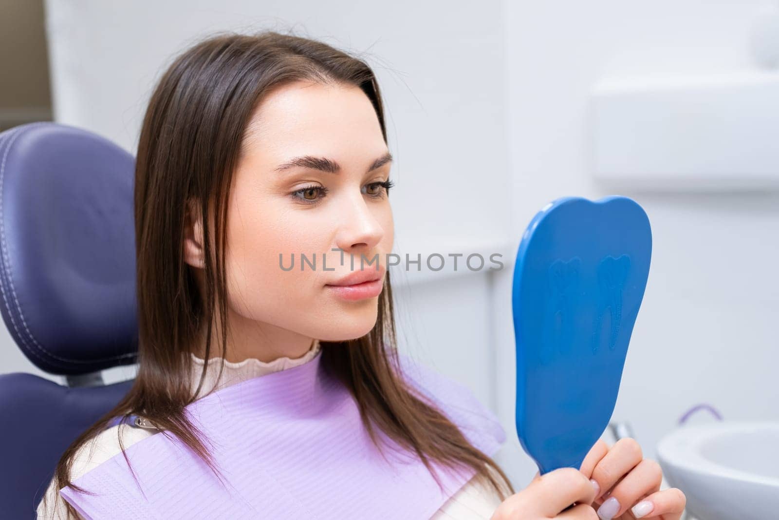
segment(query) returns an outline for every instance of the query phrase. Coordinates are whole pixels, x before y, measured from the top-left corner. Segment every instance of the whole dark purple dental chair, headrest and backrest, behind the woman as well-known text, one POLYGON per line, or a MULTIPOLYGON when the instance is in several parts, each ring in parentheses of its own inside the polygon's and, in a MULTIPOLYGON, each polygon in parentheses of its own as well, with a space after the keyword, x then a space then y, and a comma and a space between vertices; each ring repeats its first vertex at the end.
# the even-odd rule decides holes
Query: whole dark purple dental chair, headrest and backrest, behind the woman
POLYGON ((65 382, 0 375, 2 518, 35 518, 62 453, 132 385, 101 371, 136 363, 134 164, 72 126, 0 133, 2 317, 27 359, 65 382))

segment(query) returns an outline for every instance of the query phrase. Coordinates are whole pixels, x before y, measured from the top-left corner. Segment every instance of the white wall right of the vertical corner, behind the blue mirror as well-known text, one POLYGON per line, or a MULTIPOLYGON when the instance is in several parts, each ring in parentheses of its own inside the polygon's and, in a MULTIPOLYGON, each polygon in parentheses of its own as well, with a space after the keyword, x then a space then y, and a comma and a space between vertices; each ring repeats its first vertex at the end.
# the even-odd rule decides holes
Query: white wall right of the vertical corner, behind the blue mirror
MULTIPOLYGON (((630 196, 651 221, 647 292, 613 416, 631 423, 647 457, 702 401, 726 419, 779 419, 779 194, 614 193, 597 186, 585 164, 587 93, 605 76, 752 67, 746 42, 759 5, 504 2, 515 233, 549 200, 566 195, 630 196)), ((499 409, 509 423, 513 341, 499 345, 498 359, 499 409)), ((516 466, 517 480, 533 473, 530 465, 516 466)))

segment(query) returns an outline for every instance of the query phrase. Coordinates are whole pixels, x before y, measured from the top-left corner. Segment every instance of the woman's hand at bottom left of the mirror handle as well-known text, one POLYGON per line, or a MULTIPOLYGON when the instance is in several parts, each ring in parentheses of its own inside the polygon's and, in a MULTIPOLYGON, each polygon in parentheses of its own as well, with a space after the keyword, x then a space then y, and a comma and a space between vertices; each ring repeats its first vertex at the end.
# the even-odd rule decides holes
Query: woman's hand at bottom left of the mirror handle
POLYGON ((537 474, 525 489, 506 498, 490 520, 597 520, 590 507, 594 497, 595 488, 583 472, 555 469, 544 476, 537 474))

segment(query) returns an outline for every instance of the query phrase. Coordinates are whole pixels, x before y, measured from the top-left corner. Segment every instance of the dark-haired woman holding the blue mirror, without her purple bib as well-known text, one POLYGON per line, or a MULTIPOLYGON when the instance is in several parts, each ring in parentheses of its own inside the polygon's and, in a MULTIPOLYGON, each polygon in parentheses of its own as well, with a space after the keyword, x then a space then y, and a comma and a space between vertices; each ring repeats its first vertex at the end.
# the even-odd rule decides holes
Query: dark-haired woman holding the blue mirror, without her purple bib
POLYGON ((314 361, 337 374, 366 429, 425 466, 471 469, 433 518, 594 518, 597 486, 611 490, 603 508, 621 504, 602 511, 608 518, 643 497, 654 508, 646 518, 679 518, 683 495, 658 492, 657 466, 636 460, 633 440, 596 444, 581 471, 550 472, 513 493, 495 462, 399 377, 383 264, 391 164, 379 86, 358 58, 266 32, 210 37, 175 59, 136 157, 138 374, 62 455, 39 518, 79 518, 58 490, 77 489, 73 480, 160 430, 210 462, 185 407, 314 361), (284 269, 294 253, 321 252, 334 270, 284 269), (361 271, 375 280, 344 280, 344 255, 382 259, 379 271, 361 271), (131 414, 141 427, 111 426, 131 414))

